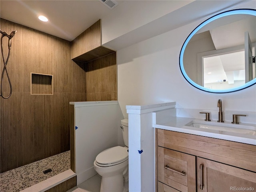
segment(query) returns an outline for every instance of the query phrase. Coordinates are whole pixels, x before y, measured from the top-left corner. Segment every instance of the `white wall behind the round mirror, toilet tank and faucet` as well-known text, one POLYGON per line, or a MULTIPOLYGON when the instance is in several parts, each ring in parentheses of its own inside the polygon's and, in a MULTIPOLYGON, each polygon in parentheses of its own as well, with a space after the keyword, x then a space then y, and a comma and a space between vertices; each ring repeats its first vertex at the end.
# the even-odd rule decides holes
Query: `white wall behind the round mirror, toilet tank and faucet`
MULTIPOLYGON (((252 7, 242 4, 236 8, 252 7)), ((214 94, 194 88, 182 76, 180 49, 190 32, 206 19, 117 51, 118 102, 125 117, 126 105, 166 101, 176 101, 177 108, 218 110, 217 101, 222 99, 223 110, 256 111, 256 85, 214 94)))

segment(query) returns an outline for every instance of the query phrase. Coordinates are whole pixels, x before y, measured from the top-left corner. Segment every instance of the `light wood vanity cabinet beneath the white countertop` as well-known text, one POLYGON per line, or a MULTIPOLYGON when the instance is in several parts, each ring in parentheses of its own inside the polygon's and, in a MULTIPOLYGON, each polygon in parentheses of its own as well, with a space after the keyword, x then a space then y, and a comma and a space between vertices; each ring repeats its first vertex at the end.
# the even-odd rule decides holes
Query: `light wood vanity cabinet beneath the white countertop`
POLYGON ((256 145, 156 129, 158 192, 256 190, 256 145))

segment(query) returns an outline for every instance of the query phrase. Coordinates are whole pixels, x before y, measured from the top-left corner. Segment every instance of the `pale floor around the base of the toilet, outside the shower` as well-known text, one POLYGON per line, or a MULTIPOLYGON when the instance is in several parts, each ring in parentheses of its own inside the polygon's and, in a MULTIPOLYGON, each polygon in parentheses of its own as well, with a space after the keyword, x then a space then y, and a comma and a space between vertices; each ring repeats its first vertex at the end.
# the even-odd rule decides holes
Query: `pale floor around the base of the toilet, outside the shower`
MULTIPOLYGON (((96 174, 92 178, 73 187, 67 192, 100 192, 101 176, 96 174)), ((124 192, 128 192, 129 182, 124 182, 124 192)))

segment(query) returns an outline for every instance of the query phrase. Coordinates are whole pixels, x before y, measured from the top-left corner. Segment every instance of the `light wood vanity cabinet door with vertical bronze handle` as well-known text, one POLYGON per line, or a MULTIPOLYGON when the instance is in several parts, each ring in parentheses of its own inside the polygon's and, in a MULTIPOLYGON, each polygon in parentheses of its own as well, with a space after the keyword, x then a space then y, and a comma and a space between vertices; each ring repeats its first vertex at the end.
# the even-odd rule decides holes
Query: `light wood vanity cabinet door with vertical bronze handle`
POLYGON ((256 173, 197 157, 197 191, 256 190, 256 173))

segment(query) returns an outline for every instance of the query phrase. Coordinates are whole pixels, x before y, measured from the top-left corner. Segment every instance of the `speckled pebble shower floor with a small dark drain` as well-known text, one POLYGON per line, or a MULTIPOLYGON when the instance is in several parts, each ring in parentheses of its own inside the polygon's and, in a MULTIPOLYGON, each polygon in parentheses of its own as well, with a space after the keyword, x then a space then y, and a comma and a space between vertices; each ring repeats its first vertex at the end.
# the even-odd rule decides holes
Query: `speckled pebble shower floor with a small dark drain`
POLYGON ((70 169, 70 151, 42 159, 0 174, 1 192, 18 192, 70 169), (46 174, 44 170, 52 169, 46 174))

